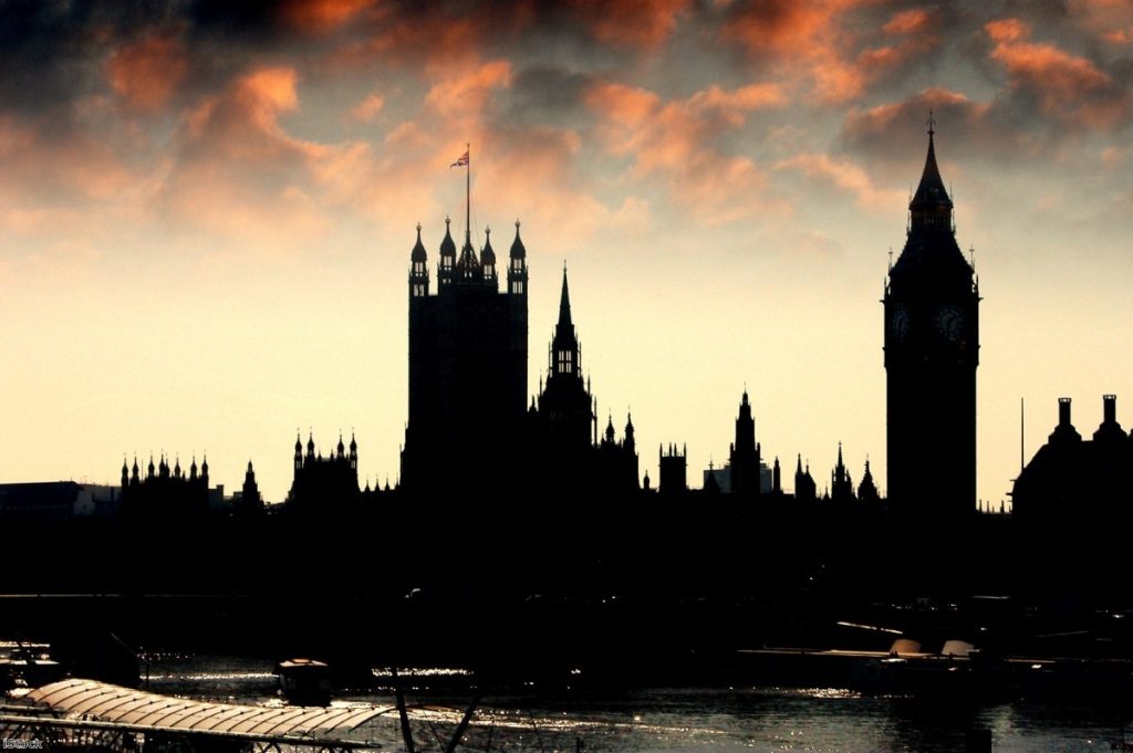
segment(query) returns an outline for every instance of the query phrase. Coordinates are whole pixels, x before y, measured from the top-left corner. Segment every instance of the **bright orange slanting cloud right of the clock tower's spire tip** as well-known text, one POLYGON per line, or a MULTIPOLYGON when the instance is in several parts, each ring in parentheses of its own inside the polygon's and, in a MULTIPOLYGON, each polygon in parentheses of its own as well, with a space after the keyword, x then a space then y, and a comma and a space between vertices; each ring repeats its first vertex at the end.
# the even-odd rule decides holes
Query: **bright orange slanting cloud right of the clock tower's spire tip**
POLYGON ((1121 97, 1109 92, 1113 79, 1090 60, 1030 42, 1031 27, 1016 18, 983 28, 996 43, 991 58, 1007 70, 1012 88, 1033 93, 1047 113, 1102 128, 1121 118, 1121 97))

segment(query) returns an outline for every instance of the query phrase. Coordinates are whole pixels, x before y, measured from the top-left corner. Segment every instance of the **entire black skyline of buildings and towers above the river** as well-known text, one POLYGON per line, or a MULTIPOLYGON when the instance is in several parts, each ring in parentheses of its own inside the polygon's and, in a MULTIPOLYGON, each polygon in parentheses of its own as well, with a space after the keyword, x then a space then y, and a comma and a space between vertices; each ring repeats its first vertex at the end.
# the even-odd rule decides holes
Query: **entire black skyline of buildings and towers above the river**
MULTIPOLYGON (((469 168, 467 154, 458 165, 469 168)), ((466 177, 468 217, 470 182, 466 177)), ((825 562, 838 562, 846 579, 872 567, 863 582, 884 580, 894 546, 904 547, 910 562, 936 557, 949 565, 954 551, 925 553, 918 533, 923 529, 917 528, 925 523, 966 532, 988 550, 1014 536, 1015 545, 999 547, 1007 553, 1030 550, 1016 522, 1028 534, 1038 531, 1059 546, 1059 531, 1085 536, 1099 524, 1125 530, 1133 439, 1116 422, 1113 396, 1105 399, 1106 419, 1092 443, 1073 429, 1070 403, 1063 404, 1050 442, 1015 484, 1017 521, 976 514, 980 296, 974 269, 956 242, 953 211, 930 117, 904 248, 891 263, 881 301, 887 495, 879 493, 868 460, 854 485, 841 445, 828 486, 819 489, 809 463, 796 453, 794 486, 785 489, 780 457, 757 442, 747 390, 726 465, 709 469, 704 488, 691 490, 688 454, 671 443, 658 450, 655 485, 648 471, 642 474, 633 417, 627 414, 624 425, 616 418, 623 426, 620 435, 615 417, 603 417, 599 431, 597 401, 582 371, 566 265, 546 373, 530 395, 530 273, 521 225, 516 222, 500 268, 489 229, 477 250, 467 220, 463 232, 458 231, 458 253, 446 219, 434 267, 420 225, 409 253, 408 420, 400 477, 392 487, 370 488, 367 481, 359 488, 353 436, 349 445, 340 436, 324 457, 308 434, 306 445, 296 437, 293 481, 281 505, 263 504, 250 462, 242 489, 225 499, 221 489, 208 488, 204 467, 184 473, 163 456, 145 477, 136 461, 133 470, 123 462, 121 487, 108 488, 95 512, 84 515, 105 513, 90 523, 103 537, 160 536, 184 539, 186 547, 212 525, 232 537, 231 550, 240 554, 229 556, 238 558, 253 557, 256 547, 249 541, 274 548, 300 540, 337 558, 361 557, 358 553, 367 551, 378 532, 392 558, 420 563, 435 577, 460 571, 457 563, 469 540, 505 540, 508 546, 492 548, 492 556, 501 557, 497 566, 516 577, 537 580, 551 573, 556 583, 588 579, 597 589, 620 579, 636 582, 634 573, 648 571, 650 582, 675 590, 705 588, 706 582, 755 589, 766 579, 802 584, 799 579, 812 577, 816 563, 825 562), (773 459, 769 465, 765 459, 773 459), (1067 528, 1067 522, 1073 524, 1067 528), (412 536, 421 531, 438 542, 425 558, 412 536), (749 555, 753 542, 760 547, 758 567, 749 555)), ((77 485, 50 486, 0 488, 0 515, 32 525, 48 517, 67 520, 68 510, 78 510, 67 500, 77 485)), ((83 527, 88 523, 84 519, 76 525, 87 530, 83 527)), ((77 540, 94 547, 99 539, 84 534, 77 540)), ((954 549, 956 544, 942 546, 954 549)), ((245 562, 249 570, 252 562, 245 562)), ((304 572, 300 559, 293 566, 304 572)), ((125 563, 122 567, 128 570, 125 563)), ((918 577, 913 568, 909 580, 918 577)))

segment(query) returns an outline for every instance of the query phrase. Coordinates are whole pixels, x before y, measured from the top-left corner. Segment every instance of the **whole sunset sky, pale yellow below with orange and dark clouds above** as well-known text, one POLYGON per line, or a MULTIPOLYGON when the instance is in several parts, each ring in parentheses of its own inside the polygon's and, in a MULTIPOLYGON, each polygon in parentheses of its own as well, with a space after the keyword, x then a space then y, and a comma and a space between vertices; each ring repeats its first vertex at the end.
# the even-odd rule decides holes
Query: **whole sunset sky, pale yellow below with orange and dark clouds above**
MULTIPOLYGON (((397 481, 409 251, 522 221, 530 384, 562 265, 641 470, 885 487, 879 300, 936 117, 981 306, 978 491, 1074 399, 1133 423, 1133 3, 0 0, 0 481, 207 452, 281 500, 298 428, 397 481)), ((500 459, 508 462, 506 457, 500 459)), ((942 467, 942 473, 948 472, 942 467)))

